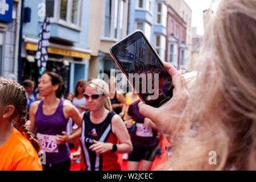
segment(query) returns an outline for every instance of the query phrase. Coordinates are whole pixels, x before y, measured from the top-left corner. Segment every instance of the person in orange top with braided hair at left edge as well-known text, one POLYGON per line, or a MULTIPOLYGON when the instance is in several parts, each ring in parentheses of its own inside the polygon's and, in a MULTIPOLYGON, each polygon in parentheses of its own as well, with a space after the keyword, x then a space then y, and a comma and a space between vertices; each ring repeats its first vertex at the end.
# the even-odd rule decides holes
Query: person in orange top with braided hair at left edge
POLYGON ((1 171, 42 171, 36 153, 36 150, 40 151, 40 146, 24 127, 26 116, 27 98, 25 89, 9 78, 0 77, 1 171), (14 122, 19 131, 12 126, 14 122))

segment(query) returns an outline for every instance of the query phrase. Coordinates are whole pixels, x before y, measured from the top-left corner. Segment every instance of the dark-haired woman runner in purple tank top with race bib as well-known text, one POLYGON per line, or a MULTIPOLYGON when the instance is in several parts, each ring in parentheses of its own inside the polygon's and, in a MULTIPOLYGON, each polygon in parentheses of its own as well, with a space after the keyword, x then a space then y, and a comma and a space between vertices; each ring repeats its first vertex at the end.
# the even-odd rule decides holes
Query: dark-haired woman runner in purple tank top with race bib
POLYGON ((68 171, 71 166, 69 159, 69 141, 80 137, 80 129, 68 135, 68 118, 80 127, 82 117, 75 106, 60 99, 64 92, 62 78, 53 72, 44 72, 38 85, 44 100, 33 102, 30 106, 30 131, 35 134, 41 149, 46 152, 44 171, 68 171))

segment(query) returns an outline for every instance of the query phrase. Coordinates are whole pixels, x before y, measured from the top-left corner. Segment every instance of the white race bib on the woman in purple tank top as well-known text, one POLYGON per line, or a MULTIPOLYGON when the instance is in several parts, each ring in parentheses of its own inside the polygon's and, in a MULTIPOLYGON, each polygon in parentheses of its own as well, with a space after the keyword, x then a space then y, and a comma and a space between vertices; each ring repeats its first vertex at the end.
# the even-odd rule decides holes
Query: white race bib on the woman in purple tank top
POLYGON ((55 140, 55 135, 44 135, 38 133, 36 134, 36 138, 38 139, 42 151, 49 153, 59 152, 58 145, 55 140))

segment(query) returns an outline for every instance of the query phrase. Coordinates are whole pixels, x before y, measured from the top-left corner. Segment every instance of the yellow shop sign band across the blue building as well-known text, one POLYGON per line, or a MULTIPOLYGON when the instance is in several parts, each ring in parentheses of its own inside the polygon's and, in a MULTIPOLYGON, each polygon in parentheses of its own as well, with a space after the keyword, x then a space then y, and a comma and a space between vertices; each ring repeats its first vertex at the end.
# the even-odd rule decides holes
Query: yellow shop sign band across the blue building
MULTIPOLYGON (((35 43, 26 43, 26 49, 29 51, 37 51, 37 44, 35 43)), ((90 54, 85 52, 73 51, 63 48, 51 47, 48 48, 48 53, 53 53, 56 55, 70 56, 70 57, 79 57, 82 59, 90 59, 90 54)))

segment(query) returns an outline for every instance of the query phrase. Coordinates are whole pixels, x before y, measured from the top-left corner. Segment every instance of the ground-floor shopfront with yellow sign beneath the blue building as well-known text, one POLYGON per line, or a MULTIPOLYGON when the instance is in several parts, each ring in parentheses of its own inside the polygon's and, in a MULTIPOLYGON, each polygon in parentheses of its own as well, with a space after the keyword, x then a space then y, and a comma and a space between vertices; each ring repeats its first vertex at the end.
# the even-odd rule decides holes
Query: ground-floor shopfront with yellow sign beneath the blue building
MULTIPOLYGON (((22 80, 30 79, 38 84, 39 69, 35 59, 36 40, 25 38, 22 53, 22 80)), ((63 78, 65 92, 73 92, 77 80, 88 80, 90 51, 73 46, 50 43, 48 48, 47 71, 57 73, 63 78)))

